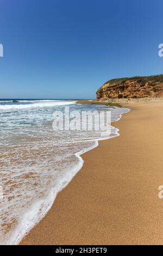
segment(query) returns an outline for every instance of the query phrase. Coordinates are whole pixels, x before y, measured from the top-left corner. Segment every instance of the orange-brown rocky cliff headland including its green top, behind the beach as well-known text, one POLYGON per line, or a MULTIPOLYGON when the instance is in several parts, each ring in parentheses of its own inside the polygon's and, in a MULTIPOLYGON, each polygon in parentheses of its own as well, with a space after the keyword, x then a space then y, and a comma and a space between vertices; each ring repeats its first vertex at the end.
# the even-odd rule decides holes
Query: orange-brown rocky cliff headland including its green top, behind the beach
POLYGON ((113 79, 97 91, 97 99, 163 96, 163 75, 113 79))

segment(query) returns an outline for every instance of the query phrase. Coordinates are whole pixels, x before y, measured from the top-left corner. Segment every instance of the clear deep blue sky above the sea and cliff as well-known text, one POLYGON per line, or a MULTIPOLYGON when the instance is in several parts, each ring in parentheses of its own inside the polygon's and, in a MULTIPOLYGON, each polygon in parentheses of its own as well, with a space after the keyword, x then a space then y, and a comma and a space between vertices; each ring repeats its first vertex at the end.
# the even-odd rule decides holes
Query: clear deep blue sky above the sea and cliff
POLYGON ((0 98, 94 98, 163 73, 162 0, 1 0, 0 98))

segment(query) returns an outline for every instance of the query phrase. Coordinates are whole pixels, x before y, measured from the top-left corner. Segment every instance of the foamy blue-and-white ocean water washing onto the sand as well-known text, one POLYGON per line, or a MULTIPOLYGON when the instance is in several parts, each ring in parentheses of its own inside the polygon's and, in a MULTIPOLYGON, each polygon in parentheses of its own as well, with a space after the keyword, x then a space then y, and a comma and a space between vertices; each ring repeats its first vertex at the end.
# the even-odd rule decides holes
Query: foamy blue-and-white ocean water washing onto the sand
MULTIPOLYGON (((75 100, 0 100, 1 245, 21 241, 82 168, 81 155, 104 139, 95 129, 54 131, 53 113, 64 116, 66 106, 71 112, 110 111, 111 122, 129 111, 75 100)), ((107 138, 118 135, 111 126, 107 138)))

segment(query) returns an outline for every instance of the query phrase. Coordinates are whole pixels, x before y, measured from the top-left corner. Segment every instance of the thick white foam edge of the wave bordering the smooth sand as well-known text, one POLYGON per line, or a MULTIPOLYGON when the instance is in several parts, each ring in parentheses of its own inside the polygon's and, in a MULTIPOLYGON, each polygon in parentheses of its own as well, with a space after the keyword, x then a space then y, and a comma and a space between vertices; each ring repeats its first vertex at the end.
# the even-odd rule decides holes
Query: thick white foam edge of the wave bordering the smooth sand
POLYGON ((57 184, 57 186, 55 186, 55 188, 52 188, 51 191, 49 191, 48 196, 34 203, 32 206, 30 206, 27 212, 23 216, 21 216, 19 224, 10 236, 7 245, 17 245, 18 243, 20 243, 23 237, 27 235, 28 232, 33 227, 35 227, 35 225, 47 214, 48 210, 51 209, 55 198, 57 197, 57 194, 70 183, 73 177, 82 168, 84 161, 80 155, 98 146, 98 141, 94 142, 95 145, 93 145, 92 147, 83 149, 80 152, 74 154, 79 160, 78 164, 73 168, 67 169, 67 175, 65 175, 64 179, 60 179, 59 183, 57 184))

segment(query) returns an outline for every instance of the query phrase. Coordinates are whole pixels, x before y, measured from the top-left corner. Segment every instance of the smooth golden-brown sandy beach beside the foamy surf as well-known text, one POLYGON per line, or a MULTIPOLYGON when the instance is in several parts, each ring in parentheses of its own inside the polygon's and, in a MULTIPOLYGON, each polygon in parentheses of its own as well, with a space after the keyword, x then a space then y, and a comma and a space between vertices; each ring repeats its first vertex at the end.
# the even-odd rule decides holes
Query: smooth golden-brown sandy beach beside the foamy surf
POLYGON ((99 142, 21 245, 163 243, 163 100, 128 103, 113 123, 120 136, 99 142))

